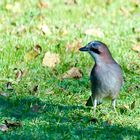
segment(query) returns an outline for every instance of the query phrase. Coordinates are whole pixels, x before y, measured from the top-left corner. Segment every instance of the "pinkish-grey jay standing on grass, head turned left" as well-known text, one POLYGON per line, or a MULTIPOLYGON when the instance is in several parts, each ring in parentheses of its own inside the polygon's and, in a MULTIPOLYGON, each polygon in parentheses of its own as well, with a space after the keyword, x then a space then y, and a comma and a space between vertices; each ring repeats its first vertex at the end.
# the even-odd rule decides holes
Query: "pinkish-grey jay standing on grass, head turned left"
POLYGON ((90 74, 92 95, 86 105, 90 106, 92 103, 94 111, 96 111, 97 104, 103 98, 109 97, 116 111, 116 98, 123 84, 120 65, 113 59, 107 45, 100 41, 92 41, 79 50, 87 51, 95 61, 90 74))

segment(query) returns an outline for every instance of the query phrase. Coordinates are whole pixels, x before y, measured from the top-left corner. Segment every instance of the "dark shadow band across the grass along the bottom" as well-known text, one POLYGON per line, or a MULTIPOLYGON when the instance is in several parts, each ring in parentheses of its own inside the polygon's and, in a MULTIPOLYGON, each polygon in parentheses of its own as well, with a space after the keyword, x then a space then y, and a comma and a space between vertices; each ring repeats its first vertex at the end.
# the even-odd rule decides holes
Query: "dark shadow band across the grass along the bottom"
MULTIPOLYGON (((121 124, 108 124, 104 120, 99 119, 95 123, 91 117, 84 115, 87 108, 84 106, 74 105, 58 105, 42 102, 35 97, 24 97, 8 99, 0 97, 0 114, 3 118, 15 118, 21 122, 25 120, 33 121, 38 119, 40 124, 30 126, 36 137, 56 138, 61 134, 59 139, 139 139, 140 130, 131 126, 123 126, 121 124), (36 105, 36 106, 34 106, 36 105), (43 124, 41 123, 43 121, 43 124), (41 129, 41 132, 36 129, 41 129), (43 129, 42 129, 43 128, 43 129), (47 132, 46 132, 47 130, 47 132), (45 137, 44 133, 48 135, 45 137), (44 135, 44 136, 43 136, 44 135)), ((26 126, 24 125, 24 131, 26 126)), ((23 129, 23 128, 21 128, 23 129)), ((28 131, 20 136, 15 133, 17 138, 33 138, 34 135, 28 131)), ((10 138, 10 135, 9 135, 10 138)))

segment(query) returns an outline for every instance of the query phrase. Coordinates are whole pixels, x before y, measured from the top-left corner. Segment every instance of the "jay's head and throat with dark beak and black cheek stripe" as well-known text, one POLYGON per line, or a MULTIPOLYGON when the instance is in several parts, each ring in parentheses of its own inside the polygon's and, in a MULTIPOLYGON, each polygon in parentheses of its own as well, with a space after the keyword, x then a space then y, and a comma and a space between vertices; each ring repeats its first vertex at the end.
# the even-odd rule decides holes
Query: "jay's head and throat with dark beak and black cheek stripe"
POLYGON ((89 54, 94 58, 95 63, 114 62, 107 45, 100 41, 89 42, 86 46, 80 48, 79 50, 89 52, 89 54))

